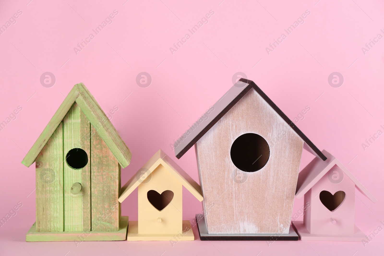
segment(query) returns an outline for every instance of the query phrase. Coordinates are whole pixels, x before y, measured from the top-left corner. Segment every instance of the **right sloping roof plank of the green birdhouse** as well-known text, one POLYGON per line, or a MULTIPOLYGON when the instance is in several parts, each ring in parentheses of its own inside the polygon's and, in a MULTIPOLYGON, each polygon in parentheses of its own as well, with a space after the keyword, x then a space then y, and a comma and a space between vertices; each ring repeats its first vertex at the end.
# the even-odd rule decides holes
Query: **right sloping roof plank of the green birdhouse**
POLYGON ((77 84, 77 86, 81 90, 81 93, 76 99, 76 102, 95 127, 100 137, 103 138, 104 142, 108 145, 109 149, 119 161, 119 164, 123 168, 127 167, 131 162, 131 151, 84 84, 80 83, 77 84))

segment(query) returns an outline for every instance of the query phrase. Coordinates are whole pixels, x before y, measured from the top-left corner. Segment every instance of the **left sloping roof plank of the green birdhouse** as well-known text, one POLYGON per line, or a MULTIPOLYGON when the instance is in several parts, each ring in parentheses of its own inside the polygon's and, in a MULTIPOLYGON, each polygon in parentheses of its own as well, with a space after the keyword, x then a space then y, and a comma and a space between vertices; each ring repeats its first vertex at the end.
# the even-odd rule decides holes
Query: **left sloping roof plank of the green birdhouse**
POLYGON ((35 162, 36 156, 40 153, 41 149, 43 149, 46 142, 49 140, 53 132, 59 126, 60 122, 63 121, 64 116, 67 114, 73 102, 79 95, 79 89, 77 86, 74 86, 71 91, 68 93, 68 96, 65 97, 63 103, 61 103, 60 107, 57 109, 56 113, 53 115, 51 120, 48 122, 47 126, 44 128, 43 132, 41 132, 40 136, 36 140, 36 142, 32 145, 31 149, 25 155, 22 164, 26 167, 30 167, 33 162, 35 162))

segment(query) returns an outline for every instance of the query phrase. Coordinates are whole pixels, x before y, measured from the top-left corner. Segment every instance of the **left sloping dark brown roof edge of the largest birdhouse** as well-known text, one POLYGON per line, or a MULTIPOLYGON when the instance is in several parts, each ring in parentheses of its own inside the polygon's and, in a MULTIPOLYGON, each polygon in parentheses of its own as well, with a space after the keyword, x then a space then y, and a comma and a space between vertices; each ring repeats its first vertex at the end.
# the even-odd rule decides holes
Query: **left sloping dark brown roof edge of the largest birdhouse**
MULTIPOLYGON (((180 159, 203 135, 209 131, 240 99, 252 88, 250 84, 245 86, 242 92, 240 92, 235 99, 231 101, 212 121, 204 127, 180 152, 176 155, 177 159, 180 159)), ((176 143, 176 142, 175 142, 176 143)))

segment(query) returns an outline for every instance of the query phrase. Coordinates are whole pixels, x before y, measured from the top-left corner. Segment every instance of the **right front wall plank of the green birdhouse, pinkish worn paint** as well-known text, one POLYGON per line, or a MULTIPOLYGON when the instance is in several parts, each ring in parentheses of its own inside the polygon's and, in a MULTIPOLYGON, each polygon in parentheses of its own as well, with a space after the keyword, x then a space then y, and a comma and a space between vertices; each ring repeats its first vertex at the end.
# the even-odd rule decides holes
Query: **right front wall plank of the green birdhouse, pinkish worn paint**
POLYGON ((119 229, 120 165, 91 125, 92 231, 119 229))

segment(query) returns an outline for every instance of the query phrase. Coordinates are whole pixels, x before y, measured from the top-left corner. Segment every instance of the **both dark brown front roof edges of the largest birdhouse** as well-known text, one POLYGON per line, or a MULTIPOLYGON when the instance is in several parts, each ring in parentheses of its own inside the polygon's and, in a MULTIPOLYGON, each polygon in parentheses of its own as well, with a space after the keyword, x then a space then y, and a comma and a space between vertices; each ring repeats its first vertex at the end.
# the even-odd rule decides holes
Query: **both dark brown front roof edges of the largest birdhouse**
MULTIPOLYGON (((185 147, 180 150, 176 155, 177 159, 180 159, 185 152, 187 152, 209 129, 212 128, 251 88, 253 88, 267 103, 272 107, 273 110, 301 137, 305 145, 312 151, 313 154, 317 155, 321 160, 327 160, 327 157, 311 142, 310 139, 289 119, 281 109, 276 106, 275 103, 252 81, 241 78, 239 81, 247 83, 248 85, 228 104, 217 116, 202 129, 185 147)), ((176 144, 177 142, 175 142, 176 144)))

